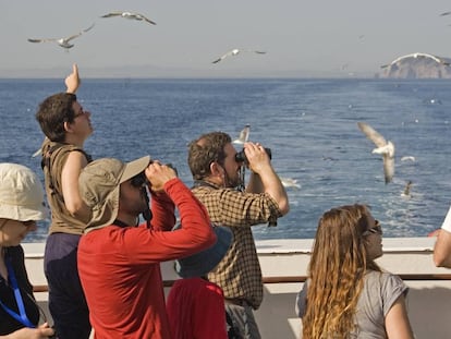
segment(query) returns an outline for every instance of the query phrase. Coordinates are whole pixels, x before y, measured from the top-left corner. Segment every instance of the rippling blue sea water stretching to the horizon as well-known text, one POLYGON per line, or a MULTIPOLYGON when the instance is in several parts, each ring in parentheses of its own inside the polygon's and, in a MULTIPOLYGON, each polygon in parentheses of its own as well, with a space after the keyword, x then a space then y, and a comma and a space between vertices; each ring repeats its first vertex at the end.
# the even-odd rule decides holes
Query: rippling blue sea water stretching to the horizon
MULTIPOLYGON (((42 178, 32 158, 42 141, 35 112, 63 89, 62 80, 0 80, 0 161, 42 178)), ((291 210, 276 228, 253 228, 256 239, 313 238, 325 210, 354 203, 371 207, 385 237, 426 237, 450 206, 450 81, 87 78, 77 95, 92 112, 85 148, 94 158, 150 155, 174 165, 187 185, 190 141, 219 130, 237 137, 251 124, 249 140, 271 148, 279 175, 301 185, 288 189, 291 210), (357 121, 394 143, 391 183, 357 121)), ((47 228, 40 222, 26 241, 44 241, 47 228)))

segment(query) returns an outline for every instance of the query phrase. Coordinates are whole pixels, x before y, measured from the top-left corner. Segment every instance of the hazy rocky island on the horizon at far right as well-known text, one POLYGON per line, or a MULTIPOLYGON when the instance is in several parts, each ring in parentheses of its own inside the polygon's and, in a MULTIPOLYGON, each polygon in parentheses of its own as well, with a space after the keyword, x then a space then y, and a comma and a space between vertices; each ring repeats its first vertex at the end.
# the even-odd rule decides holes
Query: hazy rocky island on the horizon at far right
POLYGON ((451 78, 451 59, 428 53, 406 55, 381 68, 381 78, 451 78))

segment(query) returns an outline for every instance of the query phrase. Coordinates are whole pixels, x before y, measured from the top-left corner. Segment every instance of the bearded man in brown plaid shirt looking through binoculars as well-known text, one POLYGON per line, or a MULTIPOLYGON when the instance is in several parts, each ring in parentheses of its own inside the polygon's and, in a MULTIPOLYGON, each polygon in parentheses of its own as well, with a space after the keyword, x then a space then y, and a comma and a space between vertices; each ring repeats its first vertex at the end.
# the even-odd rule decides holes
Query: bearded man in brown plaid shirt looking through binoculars
POLYGON ((226 311, 240 338, 260 338, 253 310, 263 301, 261 270, 251 227, 269 222, 289 211, 287 192, 276 174, 268 152, 258 143, 244 144, 244 161, 229 134, 211 132, 188 146, 193 193, 206 206, 212 222, 229 227, 233 242, 208 279, 219 284, 226 311), (251 169, 244 190, 242 166, 251 169))

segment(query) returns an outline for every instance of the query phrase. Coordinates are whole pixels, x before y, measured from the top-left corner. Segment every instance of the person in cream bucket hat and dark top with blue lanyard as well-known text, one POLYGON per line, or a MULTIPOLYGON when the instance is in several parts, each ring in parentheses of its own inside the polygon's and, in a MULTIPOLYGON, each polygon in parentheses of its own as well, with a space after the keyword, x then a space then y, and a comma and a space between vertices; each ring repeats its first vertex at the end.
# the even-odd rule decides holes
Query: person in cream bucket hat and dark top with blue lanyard
POLYGON ((19 164, 0 164, 0 338, 48 338, 25 270, 21 241, 47 216, 39 178, 19 164))

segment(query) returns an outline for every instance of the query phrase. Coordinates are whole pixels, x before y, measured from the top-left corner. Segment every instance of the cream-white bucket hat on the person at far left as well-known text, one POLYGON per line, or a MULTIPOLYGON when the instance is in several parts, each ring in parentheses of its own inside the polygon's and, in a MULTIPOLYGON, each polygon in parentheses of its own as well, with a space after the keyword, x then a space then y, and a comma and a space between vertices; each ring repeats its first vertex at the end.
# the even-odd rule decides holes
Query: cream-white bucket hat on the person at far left
POLYGON ((19 164, 0 164, 0 218, 42 220, 48 210, 42 184, 29 168, 19 164))

